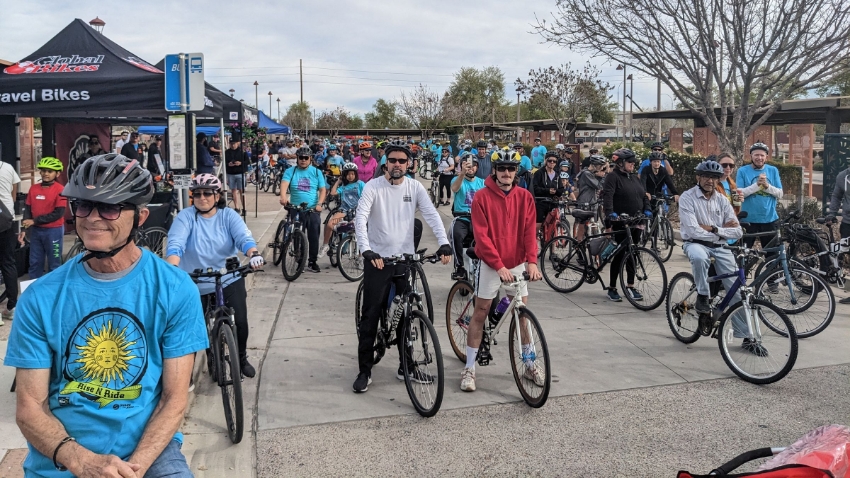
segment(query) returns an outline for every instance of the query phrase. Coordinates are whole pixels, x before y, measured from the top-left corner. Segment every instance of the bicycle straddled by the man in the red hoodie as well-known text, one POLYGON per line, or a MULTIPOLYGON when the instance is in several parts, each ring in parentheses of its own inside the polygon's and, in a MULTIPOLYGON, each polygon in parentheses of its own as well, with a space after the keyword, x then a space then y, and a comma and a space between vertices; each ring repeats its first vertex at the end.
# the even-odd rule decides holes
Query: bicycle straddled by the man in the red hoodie
MULTIPOLYGON (((470 270, 477 271, 480 260, 470 248, 465 255, 472 261, 470 270)), ((533 408, 540 408, 549 397, 552 385, 552 370, 549 365, 549 347, 540 322, 531 310, 522 302, 520 291, 529 276, 523 272, 522 278, 514 277, 514 281, 504 284, 513 290, 513 298, 507 309, 500 315, 496 312, 499 295, 493 299, 487 320, 484 321, 484 335, 478 348, 476 361, 481 366, 490 364, 493 356, 490 345, 498 345, 496 335, 506 320, 510 320, 508 336, 508 355, 511 358, 511 372, 517 384, 522 399, 533 408), (537 383, 539 374, 543 383, 537 383)), ((511 295, 510 293, 508 295, 511 295)), ((475 290, 467 280, 458 280, 449 289, 446 301, 446 329, 452 350, 461 362, 466 362, 466 336, 469 323, 475 310, 475 290)))

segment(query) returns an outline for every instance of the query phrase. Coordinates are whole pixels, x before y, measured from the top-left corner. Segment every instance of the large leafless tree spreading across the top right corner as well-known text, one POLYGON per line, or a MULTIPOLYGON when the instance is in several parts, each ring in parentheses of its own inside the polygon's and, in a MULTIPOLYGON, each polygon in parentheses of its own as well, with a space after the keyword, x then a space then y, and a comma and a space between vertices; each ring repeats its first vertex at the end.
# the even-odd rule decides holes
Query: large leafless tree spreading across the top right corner
POLYGON ((846 71, 850 59, 844 0, 557 0, 556 8, 553 23, 536 26, 546 41, 660 78, 738 158, 784 100, 846 71))

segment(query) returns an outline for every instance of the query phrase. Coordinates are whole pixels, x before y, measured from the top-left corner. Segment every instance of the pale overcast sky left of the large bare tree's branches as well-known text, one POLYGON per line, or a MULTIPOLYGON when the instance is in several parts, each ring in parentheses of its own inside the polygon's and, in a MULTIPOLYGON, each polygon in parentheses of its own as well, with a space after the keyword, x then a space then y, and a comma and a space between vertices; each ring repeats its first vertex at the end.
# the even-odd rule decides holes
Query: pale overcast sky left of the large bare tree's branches
MULTIPOLYGON (((304 61, 304 99, 317 112, 337 105, 355 113, 371 110, 378 98, 391 100, 426 84, 444 91, 461 67, 498 66, 505 89, 516 101, 514 80, 530 69, 587 60, 540 43, 530 33, 538 17, 549 16, 554 0, 416 2, 371 0, 274 2, 45 1, 3 2, 0 58, 18 61, 35 51, 74 18, 100 17, 104 35, 150 63, 168 53, 201 52, 206 80, 236 98, 269 111, 269 91, 280 98, 281 114, 299 99, 298 60, 304 61), (203 10, 197 6, 203 5, 203 10)), ((591 60, 601 79, 622 102, 622 71, 591 60)), ((653 78, 636 74, 635 102, 656 105, 653 78)), ((662 90, 662 93, 666 92, 662 90)), ((672 98, 662 94, 662 107, 672 98)), ((635 109, 637 111, 637 109, 635 109)))

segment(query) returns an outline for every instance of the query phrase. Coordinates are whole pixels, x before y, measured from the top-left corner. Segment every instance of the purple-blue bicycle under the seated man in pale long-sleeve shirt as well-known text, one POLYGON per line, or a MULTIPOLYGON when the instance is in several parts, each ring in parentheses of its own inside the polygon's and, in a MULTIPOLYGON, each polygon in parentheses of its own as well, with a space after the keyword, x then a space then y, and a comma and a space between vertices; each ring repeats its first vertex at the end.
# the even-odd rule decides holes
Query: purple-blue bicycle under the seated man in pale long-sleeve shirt
POLYGON ((797 360, 796 329, 785 312, 759 298, 755 287, 747 285, 746 263, 748 256, 754 252, 746 247, 722 247, 737 253, 738 269, 708 278, 715 289, 709 299, 711 312, 696 313, 697 292, 693 275, 680 272, 670 281, 667 323, 676 339, 686 344, 696 342, 701 335, 716 338, 723 361, 741 379, 757 385, 779 381, 791 371, 797 360), (735 283, 721 299, 717 285, 719 281, 732 277, 735 283), (736 294, 741 300, 730 307, 736 294), (743 311, 743 318, 739 311, 743 311), (751 362, 758 362, 752 365, 752 370, 751 362))

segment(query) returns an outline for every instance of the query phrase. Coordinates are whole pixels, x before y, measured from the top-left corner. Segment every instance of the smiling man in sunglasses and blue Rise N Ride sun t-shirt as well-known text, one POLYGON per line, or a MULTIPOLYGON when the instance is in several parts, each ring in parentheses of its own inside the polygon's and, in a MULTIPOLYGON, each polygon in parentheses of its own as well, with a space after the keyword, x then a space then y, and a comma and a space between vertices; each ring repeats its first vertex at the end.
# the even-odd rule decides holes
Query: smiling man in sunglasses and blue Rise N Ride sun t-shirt
POLYGON ((6 349, 24 473, 191 476, 177 430, 194 353, 209 341, 189 276, 132 240, 148 218, 150 172, 93 156, 62 194, 86 252, 24 292, 6 349))

